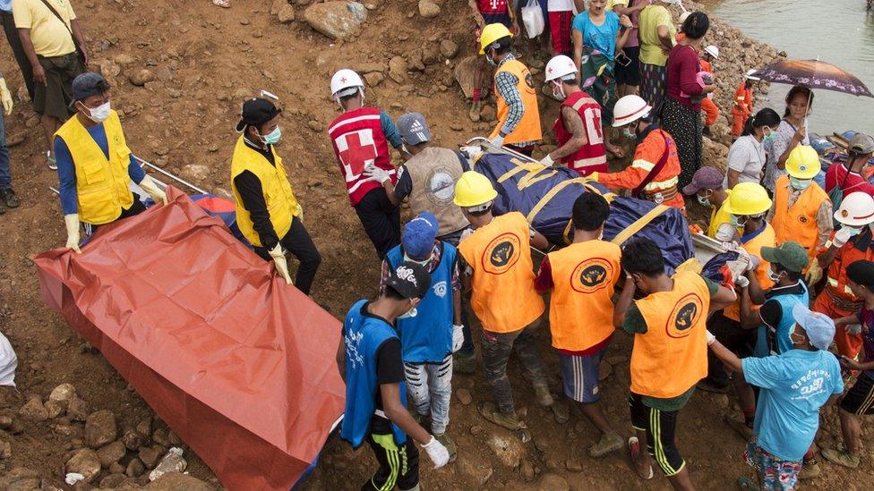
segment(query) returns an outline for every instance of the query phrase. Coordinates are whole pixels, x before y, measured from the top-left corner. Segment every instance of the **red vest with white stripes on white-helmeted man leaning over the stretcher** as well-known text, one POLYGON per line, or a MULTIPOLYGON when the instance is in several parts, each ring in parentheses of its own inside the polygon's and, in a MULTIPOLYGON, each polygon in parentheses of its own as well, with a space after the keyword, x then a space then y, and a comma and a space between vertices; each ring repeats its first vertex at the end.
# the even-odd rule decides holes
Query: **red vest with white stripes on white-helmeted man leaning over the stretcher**
MULTIPOLYGON (((601 105, 589 97, 586 92, 580 90, 564 99, 561 106, 570 106, 574 111, 577 111, 583 122, 583 129, 586 131, 586 140, 588 141, 576 152, 562 158, 561 163, 582 176, 595 172, 607 172, 607 153, 604 150, 604 133, 601 131, 601 105)), ((561 112, 559 117, 555 118, 553 132, 559 147, 567 143, 573 136, 570 131, 565 130, 564 122, 561 120, 561 112)))

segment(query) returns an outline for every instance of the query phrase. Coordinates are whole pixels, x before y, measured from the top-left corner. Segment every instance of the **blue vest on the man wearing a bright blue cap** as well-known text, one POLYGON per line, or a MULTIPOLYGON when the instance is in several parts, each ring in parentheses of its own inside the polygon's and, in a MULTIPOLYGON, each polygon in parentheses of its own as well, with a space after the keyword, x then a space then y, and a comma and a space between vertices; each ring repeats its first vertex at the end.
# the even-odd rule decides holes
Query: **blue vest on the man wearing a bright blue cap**
MULTIPOLYGON (((401 350, 407 363, 440 363, 452 352, 452 267, 457 250, 446 242, 440 264, 431 272, 431 288, 416 305, 416 317, 398 319, 401 350)), ((401 246, 386 256, 394 269, 404 262, 401 246)))

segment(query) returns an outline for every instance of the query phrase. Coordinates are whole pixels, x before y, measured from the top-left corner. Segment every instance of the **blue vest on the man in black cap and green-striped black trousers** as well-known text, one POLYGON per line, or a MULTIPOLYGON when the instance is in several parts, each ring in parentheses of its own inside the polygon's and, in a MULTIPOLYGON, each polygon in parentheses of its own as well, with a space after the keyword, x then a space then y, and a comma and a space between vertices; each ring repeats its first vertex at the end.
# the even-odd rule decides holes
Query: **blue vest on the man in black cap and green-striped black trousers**
MULTIPOLYGON (((376 411, 376 351, 390 338, 397 338, 395 330, 377 317, 361 313, 367 301, 356 301, 343 323, 343 342, 346 344, 346 411, 340 437, 358 448, 370 432, 373 411, 376 411)), ((400 387, 400 402, 407 405, 407 385, 400 387)), ((391 423, 395 443, 407 442, 407 434, 391 423)))

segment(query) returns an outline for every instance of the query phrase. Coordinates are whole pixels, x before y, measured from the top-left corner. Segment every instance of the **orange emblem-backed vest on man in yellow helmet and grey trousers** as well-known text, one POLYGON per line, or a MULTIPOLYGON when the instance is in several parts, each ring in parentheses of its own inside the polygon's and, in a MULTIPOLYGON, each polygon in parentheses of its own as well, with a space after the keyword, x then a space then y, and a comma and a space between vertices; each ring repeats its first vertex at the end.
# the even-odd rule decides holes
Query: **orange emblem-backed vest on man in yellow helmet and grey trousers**
POLYGON ((486 331, 512 333, 544 313, 544 299, 534 288, 529 231, 525 216, 513 211, 458 244, 474 270, 470 305, 486 331))

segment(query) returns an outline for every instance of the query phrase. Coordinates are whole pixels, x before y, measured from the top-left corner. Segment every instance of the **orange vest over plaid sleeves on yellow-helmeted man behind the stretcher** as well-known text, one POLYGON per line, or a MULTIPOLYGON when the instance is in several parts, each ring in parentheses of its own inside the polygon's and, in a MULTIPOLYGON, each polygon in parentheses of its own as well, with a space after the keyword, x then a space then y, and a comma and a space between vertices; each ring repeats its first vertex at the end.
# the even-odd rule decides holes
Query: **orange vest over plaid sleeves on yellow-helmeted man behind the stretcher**
MULTIPOLYGON (((536 141, 543 138, 543 133, 540 131, 540 109, 537 107, 537 91, 534 88, 534 79, 531 78, 531 72, 528 72, 527 67, 518 60, 508 60, 501 64, 501 67, 494 72, 495 79, 498 73, 510 72, 518 80, 516 89, 519 96, 522 97, 522 105, 525 106, 525 113, 522 114, 522 119, 516 125, 516 128, 504 138, 504 144, 518 143, 520 141, 536 141)), ((507 106, 507 101, 498 93, 498 86, 494 86, 494 98, 498 101, 498 126, 492 131, 489 137, 493 139, 498 136, 498 132, 507 122, 507 115, 510 114, 510 106, 507 106)))

